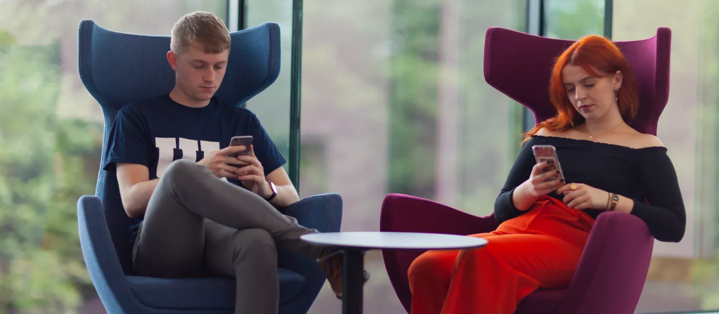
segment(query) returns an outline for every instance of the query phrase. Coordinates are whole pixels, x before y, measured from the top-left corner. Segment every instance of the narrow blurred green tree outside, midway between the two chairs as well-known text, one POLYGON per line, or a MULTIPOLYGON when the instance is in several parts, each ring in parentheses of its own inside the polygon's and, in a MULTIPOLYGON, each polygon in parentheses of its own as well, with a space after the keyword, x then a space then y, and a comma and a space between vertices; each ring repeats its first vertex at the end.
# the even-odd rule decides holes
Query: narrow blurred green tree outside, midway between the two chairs
POLYGON ((389 191, 432 199, 439 0, 393 3, 389 191))

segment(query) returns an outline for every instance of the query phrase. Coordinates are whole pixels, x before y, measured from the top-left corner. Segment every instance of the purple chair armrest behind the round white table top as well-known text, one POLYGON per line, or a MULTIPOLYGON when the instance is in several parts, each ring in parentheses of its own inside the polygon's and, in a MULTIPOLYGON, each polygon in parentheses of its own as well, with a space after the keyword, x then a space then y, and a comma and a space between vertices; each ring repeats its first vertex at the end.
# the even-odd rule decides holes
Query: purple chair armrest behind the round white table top
MULTIPOLYGON (((477 217, 439 204, 429 199, 403 194, 385 196, 380 214, 380 231, 423 232, 441 234, 478 234, 497 229, 492 214, 477 217)), ((400 302, 410 311, 412 293, 409 290, 409 265, 426 250, 383 249, 385 268, 400 302)))

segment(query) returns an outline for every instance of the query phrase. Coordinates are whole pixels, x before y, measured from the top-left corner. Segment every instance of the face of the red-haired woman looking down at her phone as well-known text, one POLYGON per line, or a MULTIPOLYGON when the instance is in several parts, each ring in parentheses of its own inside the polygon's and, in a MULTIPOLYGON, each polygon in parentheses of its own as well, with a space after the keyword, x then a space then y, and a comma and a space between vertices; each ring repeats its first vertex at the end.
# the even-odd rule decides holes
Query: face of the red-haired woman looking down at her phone
POLYGON ((576 65, 565 65, 562 69, 567 97, 574 109, 587 120, 597 120, 609 110, 618 109, 615 90, 621 86, 621 80, 619 71, 614 75, 593 77, 576 65))

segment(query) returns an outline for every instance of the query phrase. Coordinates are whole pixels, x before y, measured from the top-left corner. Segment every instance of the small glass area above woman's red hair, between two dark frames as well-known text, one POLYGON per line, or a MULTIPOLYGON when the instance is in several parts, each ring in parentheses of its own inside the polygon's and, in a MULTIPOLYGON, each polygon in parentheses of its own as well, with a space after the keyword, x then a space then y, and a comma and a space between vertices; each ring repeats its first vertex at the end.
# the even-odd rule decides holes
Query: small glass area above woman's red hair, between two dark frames
POLYGON ((544 34, 550 38, 580 39, 604 34, 605 0, 545 0, 544 34))

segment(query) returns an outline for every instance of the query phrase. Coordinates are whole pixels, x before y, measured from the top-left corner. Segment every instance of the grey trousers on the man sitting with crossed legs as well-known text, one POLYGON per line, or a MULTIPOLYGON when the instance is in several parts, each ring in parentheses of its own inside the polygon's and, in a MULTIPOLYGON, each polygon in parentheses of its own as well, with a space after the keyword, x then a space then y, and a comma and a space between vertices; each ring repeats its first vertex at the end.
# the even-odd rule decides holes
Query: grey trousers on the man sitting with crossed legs
POLYGON ((300 240, 316 232, 206 167, 179 160, 150 198, 132 260, 142 276, 235 277, 235 313, 277 313, 276 245, 316 258, 321 247, 300 240))

